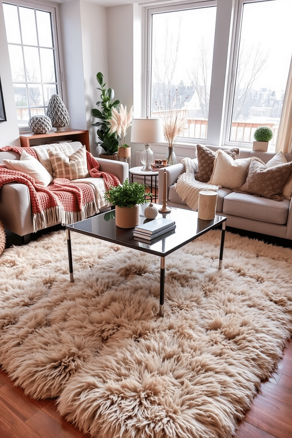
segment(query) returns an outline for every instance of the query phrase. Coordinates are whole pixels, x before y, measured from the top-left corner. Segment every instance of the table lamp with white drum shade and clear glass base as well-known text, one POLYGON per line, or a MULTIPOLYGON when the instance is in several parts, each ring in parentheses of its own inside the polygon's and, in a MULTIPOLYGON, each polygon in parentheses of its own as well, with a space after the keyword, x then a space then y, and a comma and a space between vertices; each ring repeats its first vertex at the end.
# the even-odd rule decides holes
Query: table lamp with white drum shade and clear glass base
POLYGON ((159 143, 164 141, 163 121, 156 117, 141 117, 132 119, 131 142, 144 143, 145 149, 141 153, 141 170, 152 170, 151 163, 154 155, 150 148, 150 143, 159 143))

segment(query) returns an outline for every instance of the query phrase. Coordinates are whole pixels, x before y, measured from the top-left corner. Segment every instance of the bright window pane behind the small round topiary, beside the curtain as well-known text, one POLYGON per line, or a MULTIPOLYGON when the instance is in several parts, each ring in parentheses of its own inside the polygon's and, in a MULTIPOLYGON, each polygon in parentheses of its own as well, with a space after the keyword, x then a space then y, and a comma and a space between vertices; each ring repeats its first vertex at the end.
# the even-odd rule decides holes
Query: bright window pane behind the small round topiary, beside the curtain
POLYGON ((291 0, 243 5, 230 141, 253 142, 256 128, 265 125, 276 144, 292 54, 291 17, 291 0))

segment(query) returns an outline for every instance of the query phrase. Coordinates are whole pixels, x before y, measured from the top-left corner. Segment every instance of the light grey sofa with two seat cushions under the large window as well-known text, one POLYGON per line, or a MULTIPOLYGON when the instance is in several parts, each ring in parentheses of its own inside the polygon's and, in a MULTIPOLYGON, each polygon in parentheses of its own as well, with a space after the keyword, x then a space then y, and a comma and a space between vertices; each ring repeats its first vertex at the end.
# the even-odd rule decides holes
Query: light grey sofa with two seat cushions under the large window
MULTIPOLYGON (((218 149, 209 145, 208 148, 212 151, 218 149)), ((238 158, 258 157, 264 163, 267 163, 274 155, 269 152, 240 149, 238 158)), ((292 154, 284 155, 288 162, 292 161, 292 154)), ((167 167, 166 172, 167 204, 172 207, 190 209, 175 190, 177 179, 179 175, 185 172, 185 166, 183 163, 175 164, 167 167)), ((158 176, 159 188, 163 187, 163 173, 164 169, 160 169, 158 176)), ((158 202, 162 203, 161 189, 158 192, 158 202)), ((238 193, 222 187, 218 190, 216 214, 227 217, 227 226, 292 240, 291 199, 275 201, 252 194, 238 193)))

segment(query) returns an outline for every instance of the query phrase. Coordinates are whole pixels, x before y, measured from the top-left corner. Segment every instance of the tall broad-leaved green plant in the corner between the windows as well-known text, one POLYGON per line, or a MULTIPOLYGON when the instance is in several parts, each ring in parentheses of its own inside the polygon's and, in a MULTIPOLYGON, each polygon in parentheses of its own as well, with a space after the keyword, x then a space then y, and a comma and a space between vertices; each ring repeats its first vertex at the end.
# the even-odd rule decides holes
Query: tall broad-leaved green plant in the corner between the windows
POLYGON ((97 126, 96 133, 99 137, 99 141, 96 145, 101 145, 105 153, 100 154, 101 158, 117 159, 117 151, 119 146, 118 136, 115 132, 110 132, 109 120, 112 118, 112 111, 115 109, 120 101, 115 100, 112 102, 115 92, 113 88, 106 88, 106 83, 103 82, 103 74, 99 72, 96 75, 96 79, 100 85, 97 89, 102 93, 100 95, 101 100, 96 102, 96 105, 100 105, 100 109, 92 109, 91 114, 93 117, 99 119, 99 122, 92 124, 92 126, 97 126))

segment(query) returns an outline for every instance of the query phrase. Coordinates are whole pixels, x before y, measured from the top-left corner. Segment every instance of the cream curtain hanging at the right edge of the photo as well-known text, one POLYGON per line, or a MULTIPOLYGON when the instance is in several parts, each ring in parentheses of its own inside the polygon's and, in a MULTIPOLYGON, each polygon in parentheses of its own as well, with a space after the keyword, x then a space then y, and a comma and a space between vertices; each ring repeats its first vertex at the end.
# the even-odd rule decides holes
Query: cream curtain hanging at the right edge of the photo
POLYGON ((276 144, 279 151, 292 153, 292 58, 276 144))

